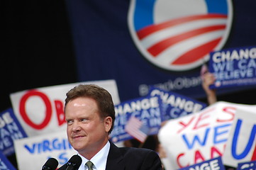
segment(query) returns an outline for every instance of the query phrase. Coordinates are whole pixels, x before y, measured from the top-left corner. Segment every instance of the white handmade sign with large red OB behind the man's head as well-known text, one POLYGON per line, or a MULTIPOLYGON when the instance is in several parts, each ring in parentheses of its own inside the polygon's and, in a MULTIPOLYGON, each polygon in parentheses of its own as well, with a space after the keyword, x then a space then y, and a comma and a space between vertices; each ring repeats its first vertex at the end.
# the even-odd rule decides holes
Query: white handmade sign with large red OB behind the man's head
POLYGON ((78 84, 97 84, 106 89, 118 104, 116 81, 87 81, 60 86, 48 86, 11 94, 13 111, 28 136, 65 129, 64 101, 66 93, 78 84))

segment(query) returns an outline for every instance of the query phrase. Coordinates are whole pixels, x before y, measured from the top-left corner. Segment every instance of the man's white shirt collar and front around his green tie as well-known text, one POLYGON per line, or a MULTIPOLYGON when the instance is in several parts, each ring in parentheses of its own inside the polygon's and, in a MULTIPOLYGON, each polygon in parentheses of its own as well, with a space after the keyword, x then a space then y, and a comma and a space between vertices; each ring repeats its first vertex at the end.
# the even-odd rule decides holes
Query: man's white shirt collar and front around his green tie
MULTIPOLYGON (((94 164, 93 169, 94 170, 104 170, 106 169, 106 159, 108 158, 108 152, 110 149, 110 143, 109 141, 106 143, 106 145, 97 153, 94 155, 94 157, 91 158, 91 162, 94 164)), ((84 168, 84 165, 89 161, 82 155, 78 154, 82 158, 82 164, 79 167, 78 170, 88 170, 88 168, 84 168)))

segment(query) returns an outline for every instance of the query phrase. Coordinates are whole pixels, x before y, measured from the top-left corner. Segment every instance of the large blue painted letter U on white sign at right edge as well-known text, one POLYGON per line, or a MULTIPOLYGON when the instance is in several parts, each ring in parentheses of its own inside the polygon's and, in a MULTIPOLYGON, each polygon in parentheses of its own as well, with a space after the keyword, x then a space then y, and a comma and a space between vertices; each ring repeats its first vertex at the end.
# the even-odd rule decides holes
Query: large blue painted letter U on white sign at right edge
POLYGON ((250 149, 252 148, 252 144, 253 144, 253 141, 255 139, 255 134, 256 134, 256 125, 253 125, 252 130, 250 132, 250 137, 249 137, 249 140, 247 142, 245 149, 243 150, 243 152, 241 154, 237 154, 236 148, 238 148, 238 136, 239 136, 240 127, 241 127, 242 123, 243 123, 243 120, 238 119, 236 126, 235 126, 235 132, 234 132, 234 136, 233 136, 233 140, 232 140, 231 152, 232 152, 232 156, 235 159, 243 159, 247 156, 247 154, 250 152, 250 149))

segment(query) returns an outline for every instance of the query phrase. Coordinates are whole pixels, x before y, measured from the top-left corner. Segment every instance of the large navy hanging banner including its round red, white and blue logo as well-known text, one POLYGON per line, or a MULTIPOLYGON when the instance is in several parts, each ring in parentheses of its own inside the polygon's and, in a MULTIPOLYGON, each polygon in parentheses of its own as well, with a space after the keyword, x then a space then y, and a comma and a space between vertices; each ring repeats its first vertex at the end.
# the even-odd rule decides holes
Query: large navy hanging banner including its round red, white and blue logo
POLYGON ((209 53, 255 45, 253 0, 66 1, 79 81, 115 79, 121 101, 147 96, 149 86, 205 97, 209 53))

